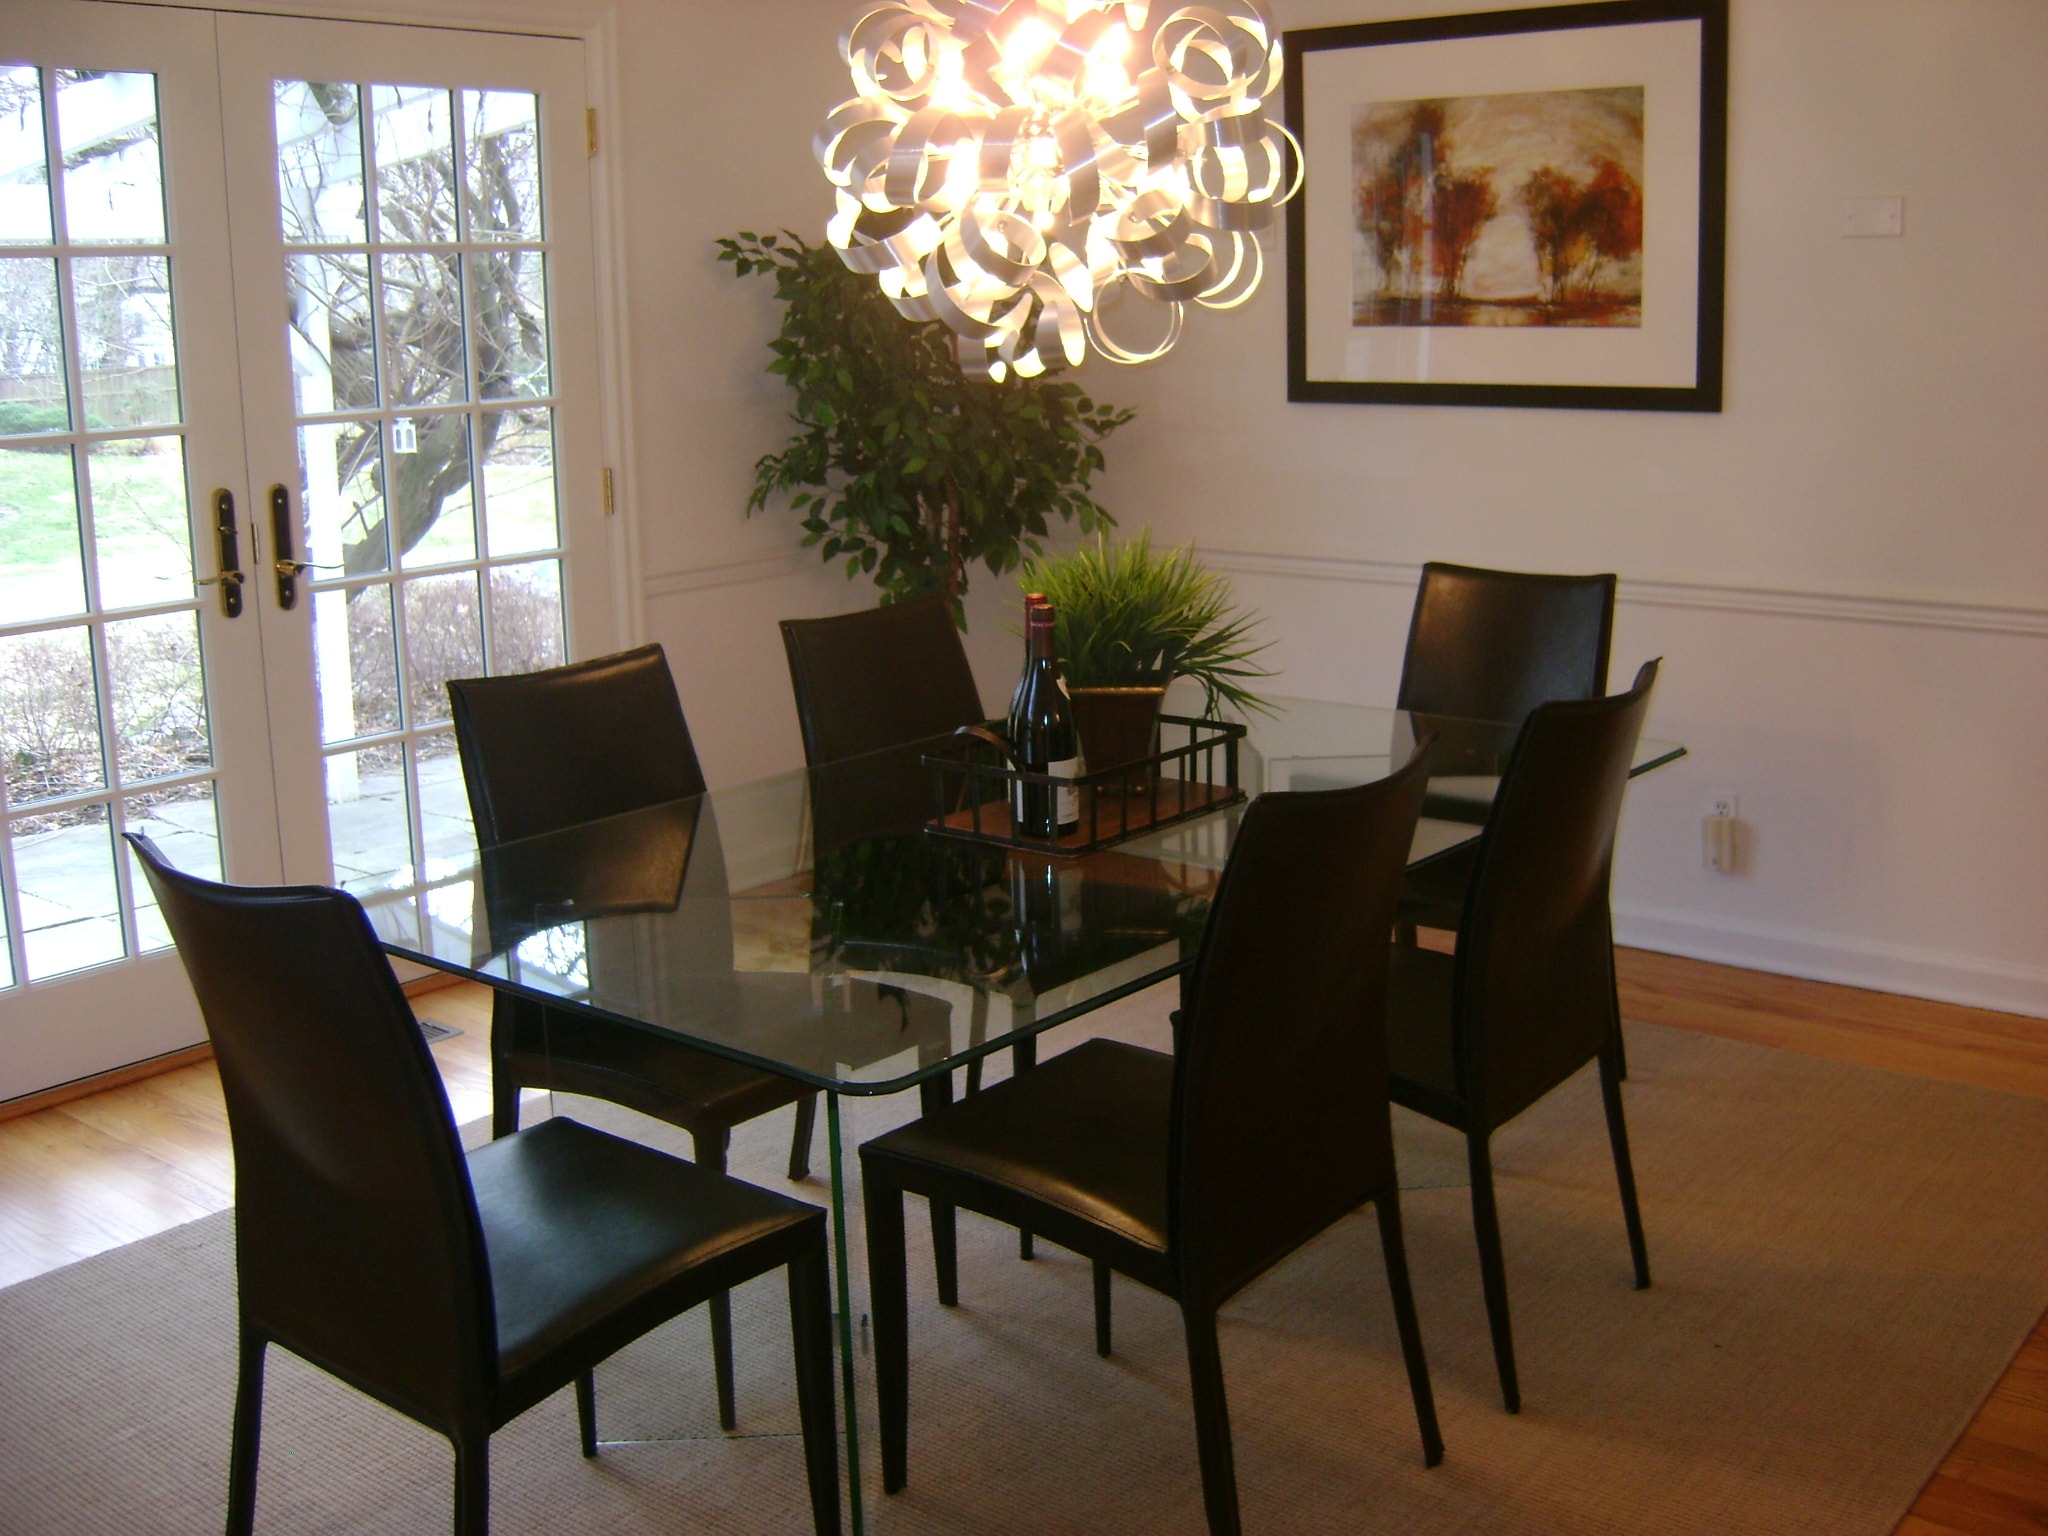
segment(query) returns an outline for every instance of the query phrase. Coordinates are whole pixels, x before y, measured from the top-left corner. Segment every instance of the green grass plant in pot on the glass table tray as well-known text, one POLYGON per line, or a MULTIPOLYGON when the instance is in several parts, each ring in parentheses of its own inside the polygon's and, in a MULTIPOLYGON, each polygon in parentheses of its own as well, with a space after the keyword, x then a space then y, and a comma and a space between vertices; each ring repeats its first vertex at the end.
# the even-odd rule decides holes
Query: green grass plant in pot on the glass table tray
POLYGON ((1155 551, 1149 530, 1122 543, 1098 535, 1071 553, 1026 559, 1018 584, 1053 604, 1090 772, 1151 756, 1176 678, 1202 684, 1204 715, 1266 709, 1251 692, 1272 676, 1255 659, 1266 649, 1251 633, 1260 618, 1192 547, 1155 551))

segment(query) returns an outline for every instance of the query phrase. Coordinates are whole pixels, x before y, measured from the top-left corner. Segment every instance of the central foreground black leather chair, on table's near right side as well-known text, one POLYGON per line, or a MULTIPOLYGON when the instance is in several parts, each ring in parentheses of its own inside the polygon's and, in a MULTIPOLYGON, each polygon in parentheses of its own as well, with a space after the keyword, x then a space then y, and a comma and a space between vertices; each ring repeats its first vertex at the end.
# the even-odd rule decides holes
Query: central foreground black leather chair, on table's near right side
MULTIPOLYGON (((1210 907, 1176 1055, 1090 1040, 860 1149, 883 1487, 909 1475, 903 1194, 1028 1225, 1180 1303, 1208 1528, 1239 1530, 1217 1309, 1378 1208, 1423 1458, 1442 1458, 1401 1247, 1380 1006, 1423 754, 1358 788, 1262 795, 1210 907)), ((944 1286, 944 1276, 940 1278, 944 1286)))

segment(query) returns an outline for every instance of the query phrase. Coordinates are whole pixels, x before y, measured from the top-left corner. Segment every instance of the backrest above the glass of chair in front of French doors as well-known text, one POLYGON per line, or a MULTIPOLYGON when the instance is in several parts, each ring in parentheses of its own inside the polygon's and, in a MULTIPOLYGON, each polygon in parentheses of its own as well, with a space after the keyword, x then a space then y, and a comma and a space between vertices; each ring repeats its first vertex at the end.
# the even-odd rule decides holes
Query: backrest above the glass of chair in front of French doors
POLYGON ((705 793, 659 645, 504 678, 451 678, 485 848, 705 793))

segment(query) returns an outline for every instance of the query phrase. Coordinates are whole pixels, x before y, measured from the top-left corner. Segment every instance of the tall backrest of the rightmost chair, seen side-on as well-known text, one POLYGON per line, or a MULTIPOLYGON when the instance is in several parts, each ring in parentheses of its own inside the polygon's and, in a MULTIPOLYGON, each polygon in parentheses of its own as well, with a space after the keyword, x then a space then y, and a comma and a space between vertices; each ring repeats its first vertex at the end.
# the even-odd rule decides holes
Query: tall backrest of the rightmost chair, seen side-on
POLYGON ((1608 881, 1657 662, 1626 694, 1536 709, 1501 776, 1458 932, 1454 1047, 1489 1126, 1591 1061, 1614 1024, 1608 881))

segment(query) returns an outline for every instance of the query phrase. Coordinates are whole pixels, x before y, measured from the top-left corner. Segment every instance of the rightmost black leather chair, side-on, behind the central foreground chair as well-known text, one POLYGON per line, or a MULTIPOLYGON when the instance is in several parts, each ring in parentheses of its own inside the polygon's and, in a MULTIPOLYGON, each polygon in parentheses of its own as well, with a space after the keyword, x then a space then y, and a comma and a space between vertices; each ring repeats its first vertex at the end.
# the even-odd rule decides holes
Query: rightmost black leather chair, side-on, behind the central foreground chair
POLYGON ((1587 1061, 1599 1061, 1636 1288, 1651 1282, 1622 1116, 1608 877, 1628 762, 1655 682, 1651 662, 1626 694, 1540 705, 1530 715, 1479 840, 1458 952, 1393 946, 1393 1096, 1464 1133, 1487 1321, 1509 1413, 1522 1409, 1522 1389, 1489 1143, 1587 1061))

